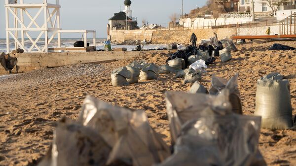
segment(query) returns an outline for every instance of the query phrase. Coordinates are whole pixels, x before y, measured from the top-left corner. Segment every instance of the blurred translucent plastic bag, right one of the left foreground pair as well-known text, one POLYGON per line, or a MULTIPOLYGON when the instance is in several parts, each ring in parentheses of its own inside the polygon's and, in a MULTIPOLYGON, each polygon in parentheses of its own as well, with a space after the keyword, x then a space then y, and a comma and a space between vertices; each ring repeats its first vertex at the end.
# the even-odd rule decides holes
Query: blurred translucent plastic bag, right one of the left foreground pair
POLYGON ((112 148, 106 166, 122 166, 116 165, 117 161, 127 166, 152 166, 170 155, 143 110, 132 111, 88 96, 78 122, 100 133, 112 148))

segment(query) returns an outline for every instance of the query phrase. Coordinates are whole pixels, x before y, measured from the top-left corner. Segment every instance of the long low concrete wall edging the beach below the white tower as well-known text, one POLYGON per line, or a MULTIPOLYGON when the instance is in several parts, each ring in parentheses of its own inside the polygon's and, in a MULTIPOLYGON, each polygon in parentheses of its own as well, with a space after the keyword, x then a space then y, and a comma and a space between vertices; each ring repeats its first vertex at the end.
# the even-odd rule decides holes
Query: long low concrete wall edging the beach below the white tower
MULTIPOLYGON (((143 51, 143 53, 172 52, 172 51, 143 51)), ((64 52, 64 53, 22 53, 16 54, 19 72, 32 71, 35 69, 74 65, 94 61, 106 61, 112 59, 129 59, 137 57, 138 51, 98 51, 98 52, 64 52)), ((13 72, 16 72, 13 69, 13 72)), ((0 67, 0 74, 6 74, 3 67, 0 67)))

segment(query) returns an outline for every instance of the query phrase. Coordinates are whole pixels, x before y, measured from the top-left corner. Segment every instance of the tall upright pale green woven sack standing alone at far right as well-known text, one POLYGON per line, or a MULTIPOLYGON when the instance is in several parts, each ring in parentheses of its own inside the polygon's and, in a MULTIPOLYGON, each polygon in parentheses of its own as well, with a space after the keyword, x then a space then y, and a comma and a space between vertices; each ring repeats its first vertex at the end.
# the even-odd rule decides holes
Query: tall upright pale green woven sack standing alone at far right
POLYGON ((258 80, 254 114, 262 117, 262 128, 285 130, 293 127, 289 81, 274 77, 258 80))

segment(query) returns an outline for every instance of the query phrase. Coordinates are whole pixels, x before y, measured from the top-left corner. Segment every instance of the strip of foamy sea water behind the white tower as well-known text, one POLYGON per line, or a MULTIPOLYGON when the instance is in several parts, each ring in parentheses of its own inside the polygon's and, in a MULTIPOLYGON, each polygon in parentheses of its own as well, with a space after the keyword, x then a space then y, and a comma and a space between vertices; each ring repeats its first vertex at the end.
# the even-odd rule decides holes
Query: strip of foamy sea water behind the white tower
MULTIPOLYGON (((33 39, 35 40, 35 39, 33 39)), ((74 42, 81 40, 80 38, 62 38, 61 39, 61 47, 74 47, 74 42)), ((96 38, 96 48, 97 49, 104 49, 104 41, 106 41, 106 38, 96 38)), ((92 46, 92 39, 88 39, 87 42, 90 43, 90 46, 92 46)), ((24 41, 25 43, 25 48, 29 49, 32 46, 32 42, 29 39, 25 39, 24 41)), ((42 41, 42 39, 40 39, 40 41, 37 42, 37 46, 42 49, 44 46, 44 39, 42 41)), ((14 40, 10 39, 9 41, 9 47, 10 50, 15 49, 14 47, 14 40)), ((53 39, 49 44, 48 47, 58 47, 58 40, 57 39, 53 39)), ((127 48, 128 51, 132 51, 136 48, 135 45, 115 45, 115 44, 111 44, 112 48, 118 48, 118 47, 125 47, 127 48)), ((163 48, 167 48, 166 44, 149 44, 149 45, 145 45, 143 49, 163 49, 163 48)), ((37 51, 37 48, 33 48, 32 51, 37 51)), ((6 39, 0 39, 0 52, 6 52, 6 39)))

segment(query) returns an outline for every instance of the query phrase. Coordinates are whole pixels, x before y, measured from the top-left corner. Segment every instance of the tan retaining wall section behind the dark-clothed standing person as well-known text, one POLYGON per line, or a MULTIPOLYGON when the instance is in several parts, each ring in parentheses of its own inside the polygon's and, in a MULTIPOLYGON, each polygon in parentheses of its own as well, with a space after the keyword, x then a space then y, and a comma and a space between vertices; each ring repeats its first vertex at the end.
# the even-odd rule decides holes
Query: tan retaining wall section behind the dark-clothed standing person
POLYGON ((152 35, 152 43, 154 44, 169 44, 182 43, 188 44, 192 33, 196 34, 197 42, 201 39, 209 39, 216 32, 218 37, 225 38, 236 34, 236 28, 221 28, 221 29, 196 29, 196 30, 162 30, 155 31, 152 35))

